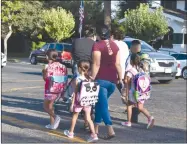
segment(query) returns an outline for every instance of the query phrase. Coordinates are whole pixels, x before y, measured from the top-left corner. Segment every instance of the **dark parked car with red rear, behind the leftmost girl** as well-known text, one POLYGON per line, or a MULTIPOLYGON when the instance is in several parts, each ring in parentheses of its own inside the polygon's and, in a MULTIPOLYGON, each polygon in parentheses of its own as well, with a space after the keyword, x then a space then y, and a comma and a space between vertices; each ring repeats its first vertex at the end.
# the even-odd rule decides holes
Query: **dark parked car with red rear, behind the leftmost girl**
POLYGON ((38 62, 47 62, 46 52, 48 49, 55 49, 59 53, 59 61, 67 67, 72 67, 73 59, 71 55, 72 44, 68 43, 47 43, 41 48, 30 53, 30 63, 36 65, 38 62))

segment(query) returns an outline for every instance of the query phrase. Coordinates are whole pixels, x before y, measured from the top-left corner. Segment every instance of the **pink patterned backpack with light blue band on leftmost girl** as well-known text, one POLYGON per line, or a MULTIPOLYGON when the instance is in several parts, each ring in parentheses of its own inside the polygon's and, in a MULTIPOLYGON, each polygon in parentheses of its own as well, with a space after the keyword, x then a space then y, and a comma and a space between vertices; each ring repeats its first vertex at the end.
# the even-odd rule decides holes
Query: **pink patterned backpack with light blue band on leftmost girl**
POLYGON ((49 92, 61 93, 68 80, 67 68, 59 62, 53 62, 47 67, 47 76, 49 78, 49 92))

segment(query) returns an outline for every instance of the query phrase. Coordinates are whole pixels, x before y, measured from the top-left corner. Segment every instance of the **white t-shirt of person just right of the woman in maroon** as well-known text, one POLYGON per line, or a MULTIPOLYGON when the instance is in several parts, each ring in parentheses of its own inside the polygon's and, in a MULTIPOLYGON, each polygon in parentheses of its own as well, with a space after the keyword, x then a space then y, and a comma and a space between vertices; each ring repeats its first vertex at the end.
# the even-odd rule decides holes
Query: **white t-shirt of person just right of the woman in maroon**
POLYGON ((114 40, 114 42, 116 43, 120 51, 120 63, 121 63, 121 68, 122 68, 122 77, 124 77, 125 71, 126 71, 125 63, 129 56, 129 48, 128 48, 128 45, 123 41, 114 40))

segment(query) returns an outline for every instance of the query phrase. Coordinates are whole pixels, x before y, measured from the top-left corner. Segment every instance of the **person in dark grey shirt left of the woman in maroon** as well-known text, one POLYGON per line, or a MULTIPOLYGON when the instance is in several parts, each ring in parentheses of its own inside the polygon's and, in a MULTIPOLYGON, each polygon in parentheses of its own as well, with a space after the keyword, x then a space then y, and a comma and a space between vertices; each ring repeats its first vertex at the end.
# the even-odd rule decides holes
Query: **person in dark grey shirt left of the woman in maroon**
POLYGON ((74 66, 72 72, 78 74, 77 63, 80 60, 88 60, 91 62, 92 46, 96 41, 96 31, 94 28, 87 26, 83 38, 77 38, 73 42, 72 55, 74 66))

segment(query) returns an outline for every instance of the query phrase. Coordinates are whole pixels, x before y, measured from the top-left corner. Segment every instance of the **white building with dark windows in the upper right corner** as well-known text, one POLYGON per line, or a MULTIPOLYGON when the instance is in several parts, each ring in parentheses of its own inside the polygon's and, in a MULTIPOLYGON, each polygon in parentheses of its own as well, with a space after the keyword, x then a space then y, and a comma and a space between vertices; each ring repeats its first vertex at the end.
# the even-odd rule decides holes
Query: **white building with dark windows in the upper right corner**
POLYGON ((164 8, 170 32, 164 36, 163 48, 176 52, 187 52, 187 1, 160 1, 164 8))

